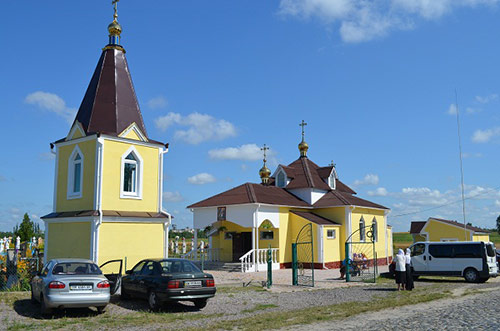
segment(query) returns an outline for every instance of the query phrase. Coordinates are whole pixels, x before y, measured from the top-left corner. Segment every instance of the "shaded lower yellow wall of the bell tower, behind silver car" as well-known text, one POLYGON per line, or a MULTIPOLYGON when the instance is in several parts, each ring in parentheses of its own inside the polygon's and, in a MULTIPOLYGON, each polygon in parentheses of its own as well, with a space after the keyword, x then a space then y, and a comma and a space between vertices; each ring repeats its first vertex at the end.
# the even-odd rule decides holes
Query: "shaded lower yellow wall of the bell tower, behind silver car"
POLYGON ((48 223, 47 261, 55 258, 90 258, 90 222, 48 223))

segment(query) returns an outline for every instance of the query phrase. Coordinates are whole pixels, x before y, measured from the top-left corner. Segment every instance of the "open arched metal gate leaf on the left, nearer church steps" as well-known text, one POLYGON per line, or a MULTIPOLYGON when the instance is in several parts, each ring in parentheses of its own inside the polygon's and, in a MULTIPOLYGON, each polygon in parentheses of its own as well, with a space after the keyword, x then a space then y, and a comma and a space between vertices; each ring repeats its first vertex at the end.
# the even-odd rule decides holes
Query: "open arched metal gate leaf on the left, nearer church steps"
POLYGON ((312 224, 300 229, 292 243, 292 284, 314 287, 314 245, 312 224))

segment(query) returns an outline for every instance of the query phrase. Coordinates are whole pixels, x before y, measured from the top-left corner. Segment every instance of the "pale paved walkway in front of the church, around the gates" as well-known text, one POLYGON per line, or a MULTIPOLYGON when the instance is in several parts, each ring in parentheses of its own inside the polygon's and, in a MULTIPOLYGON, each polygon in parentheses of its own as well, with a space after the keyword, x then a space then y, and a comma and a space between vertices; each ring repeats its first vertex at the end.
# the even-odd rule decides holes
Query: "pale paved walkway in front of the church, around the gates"
MULTIPOLYGON (((388 271, 388 267, 380 266, 378 270, 380 273, 384 273, 388 271)), ((216 285, 241 285, 243 283, 261 283, 267 280, 266 271, 243 273, 207 270, 206 272, 214 276, 216 285)), ((345 280, 341 280, 339 269, 314 270, 314 280, 316 288, 333 288, 361 284, 356 282, 346 283, 345 280)), ((292 285, 292 269, 274 270, 273 285, 292 285)))

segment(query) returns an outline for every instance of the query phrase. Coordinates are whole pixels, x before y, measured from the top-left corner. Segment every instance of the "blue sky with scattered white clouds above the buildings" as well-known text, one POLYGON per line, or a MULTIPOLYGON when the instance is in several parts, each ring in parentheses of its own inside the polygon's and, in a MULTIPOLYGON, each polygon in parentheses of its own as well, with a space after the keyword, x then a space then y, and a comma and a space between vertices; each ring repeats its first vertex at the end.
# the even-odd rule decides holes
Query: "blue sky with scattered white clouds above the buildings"
MULTIPOLYGON (((69 130, 113 11, 96 0, 0 11, 0 230, 11 230, 24 212, 51 211, 49 143, 69 130)), ((309 157, 390 207, 396 231, 461 221, 456 89, 467 221, 493 227, 499 14, 497 0, 121 1, 148 134, 171 146, 164 207, 192 226, 185 206, 259 181, 258 146, 271 147, 272 170, 297 159, 304 119, 309 157)))

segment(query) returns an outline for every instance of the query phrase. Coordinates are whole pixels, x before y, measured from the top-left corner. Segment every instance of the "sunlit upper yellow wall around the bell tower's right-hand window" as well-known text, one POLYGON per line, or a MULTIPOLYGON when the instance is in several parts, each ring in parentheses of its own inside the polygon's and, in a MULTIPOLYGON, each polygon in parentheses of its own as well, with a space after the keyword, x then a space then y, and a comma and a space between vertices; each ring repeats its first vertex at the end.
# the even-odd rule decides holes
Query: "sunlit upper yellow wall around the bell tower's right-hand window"
MULTIPOLYGON (((103 157, 103 210, 158 211, 157 147, 104 140, 103 157), (120 198, 122 156, 134 146, 142 158, 142 198, 120 198)), ((139 184, 141 185, 141 184, 139 184)))

